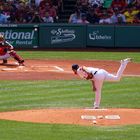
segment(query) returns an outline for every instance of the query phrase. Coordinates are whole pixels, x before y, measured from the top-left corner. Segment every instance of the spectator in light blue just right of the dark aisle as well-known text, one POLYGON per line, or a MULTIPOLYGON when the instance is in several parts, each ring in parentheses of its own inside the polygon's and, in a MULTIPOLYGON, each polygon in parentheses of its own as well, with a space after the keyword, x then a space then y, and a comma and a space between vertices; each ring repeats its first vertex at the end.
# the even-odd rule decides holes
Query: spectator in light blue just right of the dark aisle
POLYGON ((81 19, 81 11, 80 9, 76 9, 73 14, 70 15, 69 23, 77 23, 79 19, 81 19))

